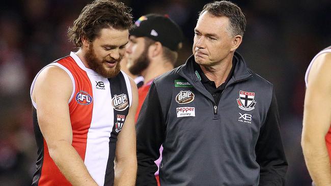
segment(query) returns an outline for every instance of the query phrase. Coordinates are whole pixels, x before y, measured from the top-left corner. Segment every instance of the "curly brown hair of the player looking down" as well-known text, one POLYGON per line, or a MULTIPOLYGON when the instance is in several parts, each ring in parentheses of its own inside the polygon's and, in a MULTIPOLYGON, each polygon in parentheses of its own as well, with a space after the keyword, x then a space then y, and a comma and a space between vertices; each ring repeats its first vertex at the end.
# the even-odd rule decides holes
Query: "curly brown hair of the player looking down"
POLYGON ((92 42, 102 28, 130 30, 133 24, 131 10, 123 3, 114 0, 96 0, 86 5, 73 22, 73 26, 69 27, 69 40, 76 47, 81 47, 82 36, 92 42))

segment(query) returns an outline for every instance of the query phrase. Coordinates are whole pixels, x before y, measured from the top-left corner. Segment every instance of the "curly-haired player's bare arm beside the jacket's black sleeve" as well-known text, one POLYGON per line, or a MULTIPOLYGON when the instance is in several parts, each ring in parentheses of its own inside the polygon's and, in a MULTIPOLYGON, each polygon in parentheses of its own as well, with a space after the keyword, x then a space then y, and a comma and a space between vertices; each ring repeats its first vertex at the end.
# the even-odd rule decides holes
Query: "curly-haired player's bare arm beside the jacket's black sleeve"
POLYGON ((138 104, 138 92, 137 87, 131 78, 130 82, 132 89, 132 104, 116 143, 114 185, 120 186, 135 185, 137 172, 134 115, 138 104))

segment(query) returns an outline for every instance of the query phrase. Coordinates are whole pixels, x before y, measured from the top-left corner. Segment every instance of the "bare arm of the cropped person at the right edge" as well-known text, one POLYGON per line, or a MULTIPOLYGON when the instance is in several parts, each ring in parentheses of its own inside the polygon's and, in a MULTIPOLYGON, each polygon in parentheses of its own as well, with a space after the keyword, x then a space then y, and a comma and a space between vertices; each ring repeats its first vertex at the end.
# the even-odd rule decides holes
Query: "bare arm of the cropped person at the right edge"
POLYGON ((331 165, 325 135, 331 123, 331 53, 316 58, 305 98, 301 146, 308 171, 317 186, 331 185, 331 165))

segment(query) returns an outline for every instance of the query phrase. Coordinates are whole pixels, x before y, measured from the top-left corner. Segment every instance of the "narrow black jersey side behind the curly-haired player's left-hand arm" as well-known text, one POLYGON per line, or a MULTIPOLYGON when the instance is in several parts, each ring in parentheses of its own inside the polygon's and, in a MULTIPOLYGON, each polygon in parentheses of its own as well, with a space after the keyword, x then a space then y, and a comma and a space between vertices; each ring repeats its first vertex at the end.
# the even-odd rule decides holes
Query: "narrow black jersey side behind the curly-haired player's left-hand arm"
POLYGON ((32 119, 33 119, 33 129, 35 132, 35 138, 37 142, 38 147, 38 157, 36 162, 36 172, 33 175, 33 182, 32 186, 37 186, 40 176, 41 176, 41 168, 44 162, 44 137, 40 131, 39 125, 38 125, 38 119, 37 119, 37 110, 34 106, 32 106, 32 119))

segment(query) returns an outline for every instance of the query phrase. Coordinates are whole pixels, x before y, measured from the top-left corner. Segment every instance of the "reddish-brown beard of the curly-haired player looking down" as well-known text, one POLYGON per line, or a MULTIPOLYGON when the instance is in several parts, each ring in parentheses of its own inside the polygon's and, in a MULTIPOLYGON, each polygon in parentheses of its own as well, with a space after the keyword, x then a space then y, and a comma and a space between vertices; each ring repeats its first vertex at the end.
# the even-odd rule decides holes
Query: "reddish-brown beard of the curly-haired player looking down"
POLYGON ((123 56, 120 56, 119 59, 117 59, 117 60, 114 58, 99 60, 94 52, 92 43, 90 44, 88 51, 85 54, 85 59, 87 61, 87 64, 89 65, 89 67, 92 70, 94 70, 96 73, 100 74, 101 76, 103 76, 105 78, 113 78, 120 73, 120 71, 121 71, 120 62, 121 62, 122 58, 123 58, 123 56), (105 68, 103 66, 103 64, 108 63, 108 61, 116 61, 115 67, 113 67, 111 69, 105 68))

